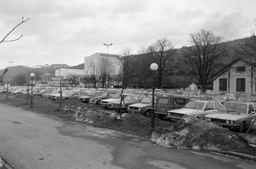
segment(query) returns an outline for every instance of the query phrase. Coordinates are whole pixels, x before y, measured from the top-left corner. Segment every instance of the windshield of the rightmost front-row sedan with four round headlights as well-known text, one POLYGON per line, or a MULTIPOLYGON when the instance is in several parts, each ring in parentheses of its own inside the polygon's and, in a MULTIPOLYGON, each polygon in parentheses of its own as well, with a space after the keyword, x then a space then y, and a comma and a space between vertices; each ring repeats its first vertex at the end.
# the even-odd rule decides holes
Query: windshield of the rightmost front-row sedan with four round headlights
POLYGON ((237 112, 238 114, 246 114, 247 105, 242 103, 224 103, 218 111, 237 112))

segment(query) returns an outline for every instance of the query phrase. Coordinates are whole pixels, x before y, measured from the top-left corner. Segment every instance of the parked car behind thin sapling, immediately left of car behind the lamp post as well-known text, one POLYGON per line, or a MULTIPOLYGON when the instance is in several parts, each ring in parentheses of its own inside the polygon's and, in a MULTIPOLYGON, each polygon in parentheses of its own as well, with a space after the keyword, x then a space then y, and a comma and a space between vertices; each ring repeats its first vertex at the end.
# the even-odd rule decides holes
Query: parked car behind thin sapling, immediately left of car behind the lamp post
MULTIPOLYGON (((127 106, 140 102, 145 96, 144 95, 128 95, 121 102, 121 110, 127 110, 127 106)), ((111 107, 117 110, 120 106, 120 100, 114 101, 111 107)))

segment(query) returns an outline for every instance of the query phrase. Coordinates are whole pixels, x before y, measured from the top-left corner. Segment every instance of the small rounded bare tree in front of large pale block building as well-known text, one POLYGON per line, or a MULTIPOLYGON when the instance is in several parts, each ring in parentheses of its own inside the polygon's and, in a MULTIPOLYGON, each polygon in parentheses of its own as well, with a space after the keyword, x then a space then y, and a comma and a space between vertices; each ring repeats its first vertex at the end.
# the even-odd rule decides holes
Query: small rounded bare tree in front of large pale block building
POLYGON ((97 60, 96 69, 98 70, 99 76, 102 80, 102 88, 104 88, 105 81, 109 81, 109 79, 116 74, 116 64, 109 58, 101 57, 97 60))

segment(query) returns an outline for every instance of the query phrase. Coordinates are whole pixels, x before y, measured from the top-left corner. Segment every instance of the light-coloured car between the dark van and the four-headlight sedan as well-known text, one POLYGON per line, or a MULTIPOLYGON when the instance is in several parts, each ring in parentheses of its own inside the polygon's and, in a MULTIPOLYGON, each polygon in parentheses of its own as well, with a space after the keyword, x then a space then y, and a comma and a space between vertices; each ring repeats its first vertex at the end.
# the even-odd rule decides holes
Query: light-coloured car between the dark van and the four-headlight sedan
POLYGON ((173 121, 179 121, 183 116, 195 116, 203 119, 204 116, 216 112, 221 107, 219 102, 211 102, 207 100, 190 101, 183 108, 167 111, 167 118, 173 121))

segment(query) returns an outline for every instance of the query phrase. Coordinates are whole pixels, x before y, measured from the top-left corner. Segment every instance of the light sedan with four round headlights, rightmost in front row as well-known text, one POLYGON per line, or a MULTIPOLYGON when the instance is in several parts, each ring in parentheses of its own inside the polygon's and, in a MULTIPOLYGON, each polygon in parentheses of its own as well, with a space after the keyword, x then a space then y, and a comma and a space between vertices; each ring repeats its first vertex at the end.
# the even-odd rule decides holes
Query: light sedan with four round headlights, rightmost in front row
POLYGON ((225 102, 215 114, 205 116, 205 120, 228 129, 245 132, 255 116, 256 103, 225 102))

